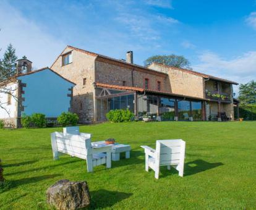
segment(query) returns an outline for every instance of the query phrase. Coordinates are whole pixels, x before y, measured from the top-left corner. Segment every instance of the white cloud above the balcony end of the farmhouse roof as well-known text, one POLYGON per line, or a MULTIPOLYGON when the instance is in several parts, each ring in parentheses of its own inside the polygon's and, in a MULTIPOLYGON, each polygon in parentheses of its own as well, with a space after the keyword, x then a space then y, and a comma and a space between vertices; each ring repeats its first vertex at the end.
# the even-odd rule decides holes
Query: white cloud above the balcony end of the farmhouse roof
MULTIPOLYGON (((232 80, 247 83, 256 80, 256 51, 249 51, 234 59, 224 59, 213 52, 204 52, 198 56, 199 64, 193 65, 194 70, 232 80)), ((238 93, 238 86, 234 86, 238 93)))

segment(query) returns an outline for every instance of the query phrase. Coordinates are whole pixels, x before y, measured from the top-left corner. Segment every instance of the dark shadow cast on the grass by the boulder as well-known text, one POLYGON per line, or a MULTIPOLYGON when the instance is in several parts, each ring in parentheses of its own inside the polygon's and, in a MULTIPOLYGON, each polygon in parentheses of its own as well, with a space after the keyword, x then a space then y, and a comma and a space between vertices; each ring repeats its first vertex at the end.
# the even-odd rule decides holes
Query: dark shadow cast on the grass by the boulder
POLYGON ((90 192, 91 204, 89 209, 100 209, 108 208, 113 206, 120 201, 129 198, 132 193, 123 193, 119 191, 109 191, 109 190, 97 190, 90 192))

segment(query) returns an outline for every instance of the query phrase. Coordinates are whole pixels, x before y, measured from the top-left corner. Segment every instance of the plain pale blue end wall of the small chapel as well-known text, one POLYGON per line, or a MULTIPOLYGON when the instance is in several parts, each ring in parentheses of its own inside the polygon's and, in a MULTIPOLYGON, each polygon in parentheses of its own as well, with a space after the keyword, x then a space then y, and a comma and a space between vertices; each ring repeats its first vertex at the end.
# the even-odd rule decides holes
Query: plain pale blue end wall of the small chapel
POLYGON ((27 115, 35 112, 43 113, 46 117, 58 117, 61 112, 69 111, 70 97, 68 90, 74 84, 67 82, 49 69, 19 77, 22 83, 24 94, 22 102, 27 115))

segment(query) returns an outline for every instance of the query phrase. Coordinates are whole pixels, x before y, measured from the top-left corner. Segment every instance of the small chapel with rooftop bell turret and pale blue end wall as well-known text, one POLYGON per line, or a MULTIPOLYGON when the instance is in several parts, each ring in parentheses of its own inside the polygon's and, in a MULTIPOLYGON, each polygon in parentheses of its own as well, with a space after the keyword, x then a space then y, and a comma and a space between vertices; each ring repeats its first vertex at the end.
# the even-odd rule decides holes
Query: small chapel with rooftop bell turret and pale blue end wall
POLYGON ((56 119, 61 112, 70 111, 73 86, 75 83, 48 67, 32 71, 31 61, 19 59, 17 74, 0 83, 0 119, 6 127, 20 127, 22 114, 39 112, 56 119))

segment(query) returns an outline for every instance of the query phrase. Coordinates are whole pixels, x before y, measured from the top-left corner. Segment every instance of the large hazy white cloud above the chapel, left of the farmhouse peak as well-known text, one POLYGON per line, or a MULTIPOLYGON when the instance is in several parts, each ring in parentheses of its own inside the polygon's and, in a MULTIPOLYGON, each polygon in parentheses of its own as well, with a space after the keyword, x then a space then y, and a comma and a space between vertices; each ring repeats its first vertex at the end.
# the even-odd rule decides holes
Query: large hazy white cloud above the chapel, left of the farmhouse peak
POLYGON ((0 56, 7 45, 12 43, 19 58, 27 56, 33 62, 33 67, 39 69, 51 66, 66 45, 47 31, 41 30, 36 23, 23 17, 6 1, 0 2, 0 20, 0 56))

